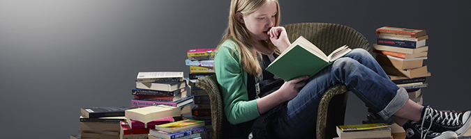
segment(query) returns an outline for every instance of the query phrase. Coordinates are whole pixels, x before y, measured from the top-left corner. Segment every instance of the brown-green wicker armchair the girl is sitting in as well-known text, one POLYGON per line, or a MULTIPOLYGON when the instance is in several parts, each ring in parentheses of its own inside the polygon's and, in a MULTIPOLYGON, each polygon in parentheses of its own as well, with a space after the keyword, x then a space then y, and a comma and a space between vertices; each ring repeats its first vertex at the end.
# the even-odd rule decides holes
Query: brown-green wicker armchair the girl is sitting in
MULTIPOLYGON (((325 54, 330 54, 331 51, 344 44, 350 48, 362 48, 371 52, 368 40, 348 26, 328 23, 297 23, 286 24, 284 27, 290 41, 294 41, 302 35, 325 54)), ((206 90, 211 99, 212 138, 223 138, 223 135, 228 133, 226 128, 229 122, 224 114, 223 97, 220 94, 216 76, 200 78, 197 80, 196 86, 206 90)), ((332 86, 324 93, 317 112, 317 138, 337 136, 335 126, 344 124, 347 96, 347 88, 341 84, 332 86)))

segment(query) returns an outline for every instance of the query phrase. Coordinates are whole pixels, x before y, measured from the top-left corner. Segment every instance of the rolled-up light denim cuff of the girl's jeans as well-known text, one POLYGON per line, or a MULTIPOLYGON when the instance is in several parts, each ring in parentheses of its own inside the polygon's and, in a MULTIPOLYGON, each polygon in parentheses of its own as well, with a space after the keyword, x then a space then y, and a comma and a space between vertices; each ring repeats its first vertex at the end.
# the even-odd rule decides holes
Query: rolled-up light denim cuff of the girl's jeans
POLYGON ((392 121, 395 117, 394 113, 402 108, 406 101, 408 101, 409 95, 404 88, 399 88, 396 96, 387 104, 387 106, 377 114, 382 117, 383 120, 392 121))

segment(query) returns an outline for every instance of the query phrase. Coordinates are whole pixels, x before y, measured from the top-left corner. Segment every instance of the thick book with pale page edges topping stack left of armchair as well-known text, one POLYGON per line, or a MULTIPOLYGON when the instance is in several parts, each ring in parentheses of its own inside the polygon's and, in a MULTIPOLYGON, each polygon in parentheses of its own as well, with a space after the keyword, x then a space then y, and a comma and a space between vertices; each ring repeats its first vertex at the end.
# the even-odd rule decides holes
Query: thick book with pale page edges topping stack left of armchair
POLYGON ((137 81, 139 82, 171 82, 183 81, 184 72, 139 72, 137 81))

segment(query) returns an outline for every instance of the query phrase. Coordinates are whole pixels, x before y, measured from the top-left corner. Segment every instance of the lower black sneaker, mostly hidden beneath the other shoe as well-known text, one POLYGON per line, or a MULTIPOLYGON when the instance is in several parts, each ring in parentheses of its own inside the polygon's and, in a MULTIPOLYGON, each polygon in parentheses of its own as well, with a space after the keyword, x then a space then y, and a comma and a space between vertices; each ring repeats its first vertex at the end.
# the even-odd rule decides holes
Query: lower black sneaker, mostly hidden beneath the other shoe
POLYGON ((454 131, 444 131, 438 133, 426 129, 419 122, 409 120, 403 125, 406 139, 456 139, 458 136, 454 131))

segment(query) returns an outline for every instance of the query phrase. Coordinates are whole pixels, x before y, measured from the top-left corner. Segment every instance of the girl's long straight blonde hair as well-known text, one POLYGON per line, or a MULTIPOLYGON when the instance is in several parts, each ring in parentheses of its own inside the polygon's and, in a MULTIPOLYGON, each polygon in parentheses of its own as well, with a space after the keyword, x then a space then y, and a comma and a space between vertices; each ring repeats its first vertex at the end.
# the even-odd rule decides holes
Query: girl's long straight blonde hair
MULTIPOLYGON (((237 47, 237 51, 239 52, 239 63, 242 65, 242 67, 244 67, 244 70, 248 74, 253 74, 255 76, 262 72, 262 68, 260 67, 258 61, 260 53, 249 43, 252 38, 251 33, 248 32, 244 24, 239 22, 236 17, 236 13, 248 15, 269 1, 276 2, 276 8, 278 12, 276 13, 274 26, 279 26, 280 5, 278 0, 232 0, 230 3, 229 22, 227 23, 227 28, 225 29, 223 38, 216 48, 219 49, 220 45, 227 39, 235 40, 235 42, 239 44, 239 47, 237 47)), ((279 54, 279 49, 275 47, 270 40, 261 40, 261 42, 264 47, 279 54)))

